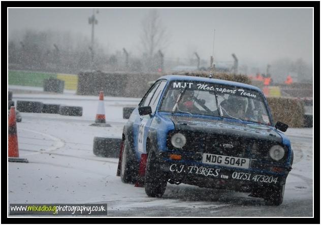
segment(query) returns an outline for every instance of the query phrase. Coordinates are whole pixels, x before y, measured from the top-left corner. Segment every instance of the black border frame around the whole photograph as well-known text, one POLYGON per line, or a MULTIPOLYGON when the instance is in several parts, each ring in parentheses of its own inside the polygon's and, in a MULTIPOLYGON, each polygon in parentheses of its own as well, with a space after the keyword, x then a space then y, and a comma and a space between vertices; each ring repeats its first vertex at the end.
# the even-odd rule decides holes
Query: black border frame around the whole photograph
MULTIPOLYGON (((5 33, 7 33, 7 8, 8 7, 25 7, 25 8, 34 8, 34 7, 74 7, 77 5, 77 7, 88 7, 88 6, 94 6, 94 7, 119 7, 121 8, 122 6, 126 7, 133 7, 133 8, 142 8, 142 7, 189 7, 189 8, 195 8, 195 7, 226 7, 229 8, 231 6, 233 7, 240 7, 240 8, 248 8, 248 7, 291 7, 291 8, 302 8, 302 7, 313 7, 314 8, 314 63, 319 62, 318 57, 320 55, 320 49, 319 49, 319 40, 320 40, 320 24, 319 24, 319 18, 320 18, 320 2, 276 2, 276 1, 271 1, 271 2, 1 2, 1 11, 2 11, 2 31, 3 31, 3 39, 2 39, 2 47, 3 49, 7 46, 7 38, 5 38, 5 33)), ((75 7, 75 8, 77 8, 75 7)), ((300 31, 298 31, 300 32, 300 31)), ((5 50, 2 51, 2 62, 3 65, 7 64, 7 54, 5 50)), ((319 78, 319 64, 317 63, 318 66, 315 66, 314 64, 314 74, 317 74, 314 76, 313 79, 319 78)), ((3 74, 7 73, 7 67, 2 66, 3 74)), ((4 81, 4 77, 2 76, 2 80, 4 81)), ((318 80, 318 79, 317 79, 318 80)), ((315 82, 316 80, 314 80, 315 82)), ((313 83, 314 83, 313 82, 313 83)), ((8 80, 7 80, 8 83, 8 80)), ((3 89, 3 95, 6 96, 4 93, 6 90, 3 89)), ((7 90, 8 91, 8 90, 7 90)), ((319 91, 319 90, 318 90, 319 91)), ((5 97, 4 97, 5 98, 5 97)), ((6 101, 3 101, 6 102, 6 101)), ((318 105, 319 103, 319 98, 318 95, 315 98, 314 104, 318 105)), ((4 104, 4 103, 3 103, 4 104)), ((318 105, 319 106, 319 105, 318 105)), ((319 107, 314 107, 319 109, 319 107)), ((315 110, 318 111, 318 110, 315 110)), ((5 117, 5 116, 3 116, 5 117)), ((316 124, 317 128, 319 124, 319 118, 315 117, 317 122, 314 122, 316 124)), ((3 126, 4 127, 4 126, 3 126)), ((5 128, 7 129, 7 128, 5 128)), ((5 130, 4 129, 4 130, 5 130)), ((5 131, 4 131, 5 132, 5 131)), ((317 138, 318 139, 318 138, 317 138)), ((75 218, 76 220, 72 220, 74 217, 71 218, 56 218, 57 220, 51 220, 51 218, 44 218, 44 217, 38 217, 38 218, 10 218, 7 216, 7 209, 8 209, 8 203, 7 205, 2 204, 2 212, 1 212, 1 219, 2 223, 186 223, 186 224, 191 224, 191 223, 217 223, 218 221, 220 223, 247 223, 247 224, 256 224, 256 223, 286 223, 286 224, 298 224, 298 223, 315 223, 319 224, 320 223, 320 218, 319 218, 319 184, 320 180, 319 178, 319 164, 318 164, 318 159, 319 159, 319 144, 315 144, 314 148, 316 151, 314 151, 314 165, 317 165, 314 167, 314 217, 312 218, 296 218, 296 217, 281 217, 281 218, 248 218, 248 217, 243 217, 243 218, 233 218, 233 217, 219 217, 217 220, 212 219, 212 220, 204 220, 203 218, 188 218, 188 221, 182 219, 182 218, 157 218, 157 220, 151 220, 150 218, 142 220, 142 218, 138 219, 132 219, 132 218, 119 218, 116 220, 116 218, 109 217, 108 219, 105 218, 92 218, 92 217, 85 217, 85 219, 82 219, 84 217, 77 217, 75 218), (87 219, 88 218, 88 219, 87 219), (89 218, 91 218, 89 220, 89 218), (112 220, 110 220, 112 218, 112 220), (200 220, 201 219, 201 220, 200 220)), ((7 161, 7 153, 6 151, 2 151, 2 164, 6 165, 7 161)), ((4 171, 4 170, 3 170, 4 171)), ((2 176, 2 181, 3 183, 7 183, 7 176, 4 175, 5 172, 3 172, 2 176)), ((2 199, 7 199, 7 194, 8 190, 4 188, 5 185, 3 185, 2 189, 2 199)))

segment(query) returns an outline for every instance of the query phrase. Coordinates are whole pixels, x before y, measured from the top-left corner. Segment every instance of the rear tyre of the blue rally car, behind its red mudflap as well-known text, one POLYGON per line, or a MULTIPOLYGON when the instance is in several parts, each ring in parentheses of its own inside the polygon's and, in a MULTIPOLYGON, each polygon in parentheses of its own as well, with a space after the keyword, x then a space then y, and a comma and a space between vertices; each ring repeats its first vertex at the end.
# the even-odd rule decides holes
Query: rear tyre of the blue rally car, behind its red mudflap
POLYGON ((124 183, 134 183, 137 180, 138 167, 130 148, 130 143, 124 140, 120 166, 120 179, 124 183))

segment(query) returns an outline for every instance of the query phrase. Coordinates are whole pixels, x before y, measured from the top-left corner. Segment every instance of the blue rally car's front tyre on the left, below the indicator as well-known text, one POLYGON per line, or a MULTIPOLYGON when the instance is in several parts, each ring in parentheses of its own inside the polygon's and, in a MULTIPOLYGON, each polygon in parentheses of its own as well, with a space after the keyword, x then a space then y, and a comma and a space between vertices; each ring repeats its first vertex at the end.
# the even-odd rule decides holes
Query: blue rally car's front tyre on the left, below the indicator
POLYGON ((166 186, 166 176, 159 168, 155 153, 150 151, 146 164, 145 192, 149 197, 161 198, 165 193, 166 186))

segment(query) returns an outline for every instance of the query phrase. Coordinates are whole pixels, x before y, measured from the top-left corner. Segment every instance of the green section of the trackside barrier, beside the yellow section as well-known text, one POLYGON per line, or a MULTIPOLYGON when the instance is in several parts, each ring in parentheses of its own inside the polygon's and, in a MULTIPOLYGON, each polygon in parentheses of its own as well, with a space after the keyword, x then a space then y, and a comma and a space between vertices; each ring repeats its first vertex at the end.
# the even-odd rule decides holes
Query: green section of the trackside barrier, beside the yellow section
POLYGON ((8 71, 9 85, 43 87, 43 81, 49 78, 57 78, 57 74, 45 73, 45 72, 22 71, 22 70, 8 71))

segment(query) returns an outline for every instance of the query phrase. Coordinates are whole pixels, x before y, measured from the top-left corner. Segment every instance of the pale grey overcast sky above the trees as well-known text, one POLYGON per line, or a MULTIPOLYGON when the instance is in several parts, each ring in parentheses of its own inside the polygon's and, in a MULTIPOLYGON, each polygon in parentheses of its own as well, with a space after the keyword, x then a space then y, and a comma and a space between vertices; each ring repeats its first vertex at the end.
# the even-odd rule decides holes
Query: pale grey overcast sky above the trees
MULTIPOLYGON (((150 9, 99 9, 95 39, 109 53, 126 48, 136 54, 140 44, 141 21, 150 9)), ((303 58, 312 63, 312 9, 158 9, 170 32, 165 57, 187 58, 197 51, 239 63, 268 64, 280 58, 303 58)), ((15 30, 62 30, 82 33, 90 40, 88 17, 92 9, 9 9, 9 39, 15 30)))

